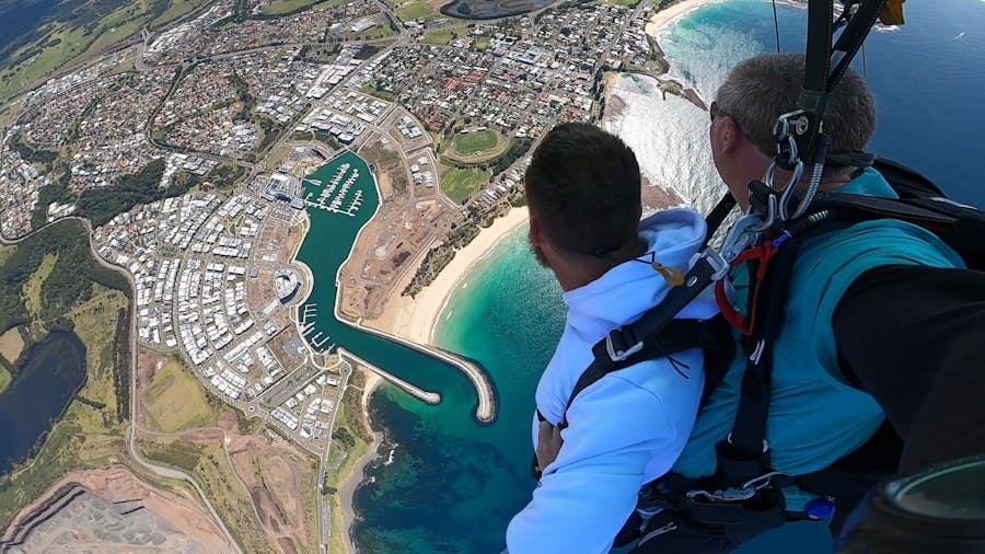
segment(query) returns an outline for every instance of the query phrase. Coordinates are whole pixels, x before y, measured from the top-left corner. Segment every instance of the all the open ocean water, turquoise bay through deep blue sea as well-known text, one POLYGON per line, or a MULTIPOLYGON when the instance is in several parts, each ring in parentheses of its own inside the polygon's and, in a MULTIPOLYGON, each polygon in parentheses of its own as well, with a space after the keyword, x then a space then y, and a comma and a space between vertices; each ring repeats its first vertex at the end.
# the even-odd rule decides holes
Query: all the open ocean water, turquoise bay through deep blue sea
MULTIPOLYGON (((778 9, 783 47, 802 49, 806 11, 778 9)), ((906 10, 907 26, 877 32, 866 47, 866 73, 880 116, 872 149, 925 172, 954 198, 985 207, 974 171, 985 154, 976 109, 985 84, 985 2, 907 2, 906 10)), ((775 49, 772 7, 762 0, 708 4, 668 28, 663 43, 672 72, 709 99, 732 64, 775 49)), ((679 150, 648 154, 650 171, 670 181, 682 160, 706 155, 700 140, 707 115, 686 106, 657 112, 662 108, 651 105, 642 122, 622 125, 637 135, 635 148, 648 140, 639 126, 670 134, 669 148, 679 150)), ((676 184, 690 201, 706 205, 718 194, 714 175, 702 173, 707 169, 688 166, 688 183, 676 184)), ((467 276, 442 314, 438 345, 482 362, 496 385, 500 409, 494 424, 474 422, 474 394, 454 392, 463 379, 450 379, 453 394, 439 406, 389 386, 374 394, 373 422, 396 449, 392 463, 368 470, 371 483, 356 494, 361 520, 355 539, 362 552, 501 550, 509 519, 534 487, 528 474, 533 393, 563 328, 559 296, 553 276, 529 253, 521 229, 467 276)), ((742 552, 790 552, 792 545, 800 554, 831 552, 813 531, 795 527, 742 552)))

